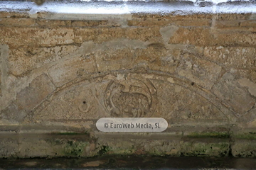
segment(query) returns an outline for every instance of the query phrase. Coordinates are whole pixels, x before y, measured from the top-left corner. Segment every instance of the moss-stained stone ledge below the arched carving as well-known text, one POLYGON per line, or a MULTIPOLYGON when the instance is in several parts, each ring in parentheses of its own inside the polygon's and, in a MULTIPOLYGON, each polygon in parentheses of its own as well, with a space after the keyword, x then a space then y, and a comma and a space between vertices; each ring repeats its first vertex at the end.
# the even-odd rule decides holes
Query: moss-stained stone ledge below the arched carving
POLYGON ((102 133, 65 131, 64 128, 62 131, 54 128, 50 132, 40 132, 31 130, 36 129, 33 126, 29 129, 21 132, 1 131, 0 143, 3 149, 0 157, 94 157, 130 154, 256 157, 256 130, 102 133))

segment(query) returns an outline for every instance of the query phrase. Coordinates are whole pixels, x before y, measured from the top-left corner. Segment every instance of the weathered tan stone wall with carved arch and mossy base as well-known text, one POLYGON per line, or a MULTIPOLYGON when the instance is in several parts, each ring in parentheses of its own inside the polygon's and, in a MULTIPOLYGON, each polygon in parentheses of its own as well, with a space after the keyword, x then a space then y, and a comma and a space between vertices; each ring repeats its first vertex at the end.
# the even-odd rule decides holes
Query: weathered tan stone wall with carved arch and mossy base
POLYGON ((70 21, 1 12, 0 155, 255 157, 255 33, 252 13, 70 21), (99 132, 105 117, 159 117, 169 128, 99 132))

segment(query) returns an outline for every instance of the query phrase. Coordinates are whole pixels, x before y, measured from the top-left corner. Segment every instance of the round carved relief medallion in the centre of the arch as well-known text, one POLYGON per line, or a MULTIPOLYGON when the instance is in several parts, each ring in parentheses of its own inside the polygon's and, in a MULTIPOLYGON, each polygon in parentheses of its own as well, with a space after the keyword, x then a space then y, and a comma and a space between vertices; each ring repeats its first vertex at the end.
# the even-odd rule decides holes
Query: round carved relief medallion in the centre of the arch
POLYGON ((156 89, 149 80, 111 81, 105 92, 105 106, 112 117, 150 117, 156 108, 156 89))

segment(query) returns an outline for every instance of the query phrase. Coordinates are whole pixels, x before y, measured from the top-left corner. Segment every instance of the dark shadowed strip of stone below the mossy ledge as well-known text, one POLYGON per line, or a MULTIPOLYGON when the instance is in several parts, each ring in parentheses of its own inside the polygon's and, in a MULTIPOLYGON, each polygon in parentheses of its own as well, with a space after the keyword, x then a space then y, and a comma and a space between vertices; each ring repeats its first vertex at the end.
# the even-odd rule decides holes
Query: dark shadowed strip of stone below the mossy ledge
POLYGON ((90 159, 2 159, 2 169, 255 169, 255 159, 213 157, 95 157, 90 159))

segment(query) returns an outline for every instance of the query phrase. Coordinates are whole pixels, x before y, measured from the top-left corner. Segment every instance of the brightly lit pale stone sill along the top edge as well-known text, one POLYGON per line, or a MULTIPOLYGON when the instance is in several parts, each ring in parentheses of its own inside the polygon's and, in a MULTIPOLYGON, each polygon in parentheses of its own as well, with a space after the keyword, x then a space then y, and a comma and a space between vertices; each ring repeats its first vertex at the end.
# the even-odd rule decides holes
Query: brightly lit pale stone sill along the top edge
POLYGON ((46 18, 48 20, 129 20, 132 14, 166 14, 189 15, 193 13, 252 13, 250 19, 256 18, 255 1, 233 1, 213 4, 203 1, 46 1, 37 6, 31 1, 1 1, 0 12, 24 13, 29 18, 46 18), (203 3, 203 4, 202 4, 203 3), (57 8, 58 6, 58 8, 57 8))

